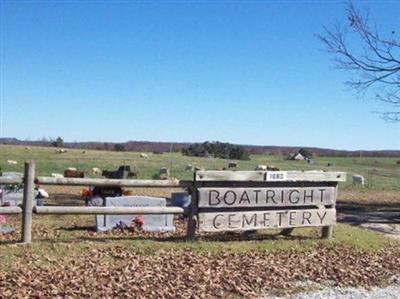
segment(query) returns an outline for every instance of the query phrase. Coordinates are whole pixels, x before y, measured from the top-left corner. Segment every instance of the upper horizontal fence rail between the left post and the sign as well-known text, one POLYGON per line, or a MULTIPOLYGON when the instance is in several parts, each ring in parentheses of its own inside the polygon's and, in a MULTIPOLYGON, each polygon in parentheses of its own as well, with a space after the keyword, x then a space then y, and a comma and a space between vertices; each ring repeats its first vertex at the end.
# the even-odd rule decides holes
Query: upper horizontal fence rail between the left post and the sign
POLYGON ((53 178, 37 177, 35 182, 41 185, 70 186, 119 186, 119 187, 188 187, 192 181, 180 180, 118 180, 94 178, 53 178))

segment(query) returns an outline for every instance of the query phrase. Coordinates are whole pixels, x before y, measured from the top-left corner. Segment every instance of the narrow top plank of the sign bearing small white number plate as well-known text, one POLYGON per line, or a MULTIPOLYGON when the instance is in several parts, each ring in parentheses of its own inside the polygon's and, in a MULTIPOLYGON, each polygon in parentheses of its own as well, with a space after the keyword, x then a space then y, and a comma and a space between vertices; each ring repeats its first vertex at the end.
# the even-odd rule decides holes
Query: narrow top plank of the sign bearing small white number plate
POLYGON ((345 172, 325 171, 230 171, 209 170, 196 172, 197 181, 249 181, 249 182, 345 182, 345 172))

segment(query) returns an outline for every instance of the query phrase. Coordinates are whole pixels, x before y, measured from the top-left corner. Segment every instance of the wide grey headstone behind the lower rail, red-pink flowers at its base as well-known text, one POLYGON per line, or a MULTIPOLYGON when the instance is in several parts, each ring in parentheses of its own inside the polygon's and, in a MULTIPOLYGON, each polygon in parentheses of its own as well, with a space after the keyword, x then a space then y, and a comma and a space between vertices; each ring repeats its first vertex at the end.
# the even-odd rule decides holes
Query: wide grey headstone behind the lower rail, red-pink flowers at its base
MULTIPOLYGON (((148 196, 106 197, 107 207, 165 207, 166 199, 148 196)), ((148 232, 175 231, 172 214, 162 215, 97 215, 97 231, 108 231, 116 227, 130 227, 134 220, 143 222, 142 229, 148 232)))

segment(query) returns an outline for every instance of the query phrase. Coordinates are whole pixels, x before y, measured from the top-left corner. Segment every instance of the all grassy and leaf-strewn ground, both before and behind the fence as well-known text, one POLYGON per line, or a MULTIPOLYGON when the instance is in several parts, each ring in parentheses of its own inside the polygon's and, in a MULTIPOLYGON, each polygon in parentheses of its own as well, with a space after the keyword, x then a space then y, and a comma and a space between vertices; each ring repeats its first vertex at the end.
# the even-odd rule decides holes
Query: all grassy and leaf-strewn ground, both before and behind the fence
MULTIPOLYGON (((0 145, 0 167, 22 172, 24 161, 33 159, 37 175, 77 167, 93 177, 93 167, 113 170, 129 164, 139 171, 139 178, 147 179, 165 166, 173 177, 190 179, 187 164, 220 169, 229 162, 179 153, 148 155, 143 159, 135 152, 82 150, 59 154, 54 148, 0 145), (7 160, 18 164, 8 165, 7 160)), ((348 181, 341 184, 345 192, 339 194, 368 195, 373 201, 385 195, 398 206, 397 160, 400 158, 321 157, 310 165, 254 155, 250 161, 237 162, 240 170, 265 164, 282 170, 345 171, 348 181), (372 170, 371 188, 351 184, 352 174, 368 178, 372 170)), ((80 187, 46 186, 46 190, 50 193, 46 204, 84 204, 80 187)), ((172 191, 135 190, 136 194, 163 197, 172 191)), ((387 283, 399 273, 398 241, 344 223, 335 226, 331 240, 321 239, 319 228, 297 228, 291 236, 282 236, 278 230, 250 235, 199 233, 196 242, 185 242, 187 223, 182 219, 175 220, 173 233, 138 229, 100 233, 94 230, 95 216, 33 215, 33 243, 28 246, 16 245, 21 237, 21 217, 9 216, 7 223, 16 232, 0 234, 0 294, 5 297, 247 298, 270 291, 296 291, 299 281, 372 286, 387 283)))

